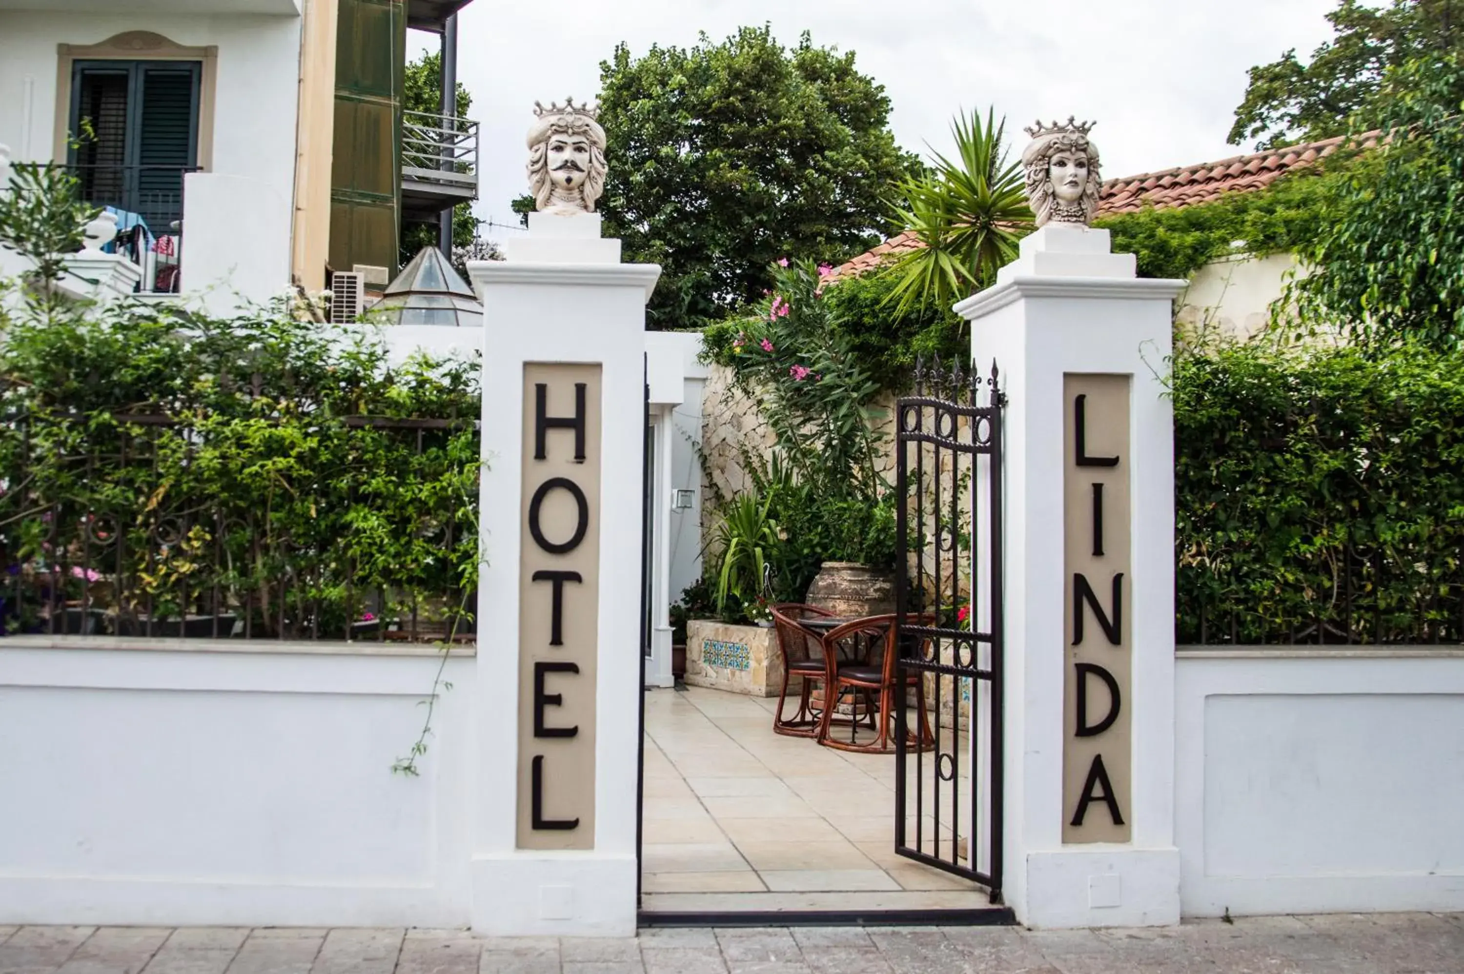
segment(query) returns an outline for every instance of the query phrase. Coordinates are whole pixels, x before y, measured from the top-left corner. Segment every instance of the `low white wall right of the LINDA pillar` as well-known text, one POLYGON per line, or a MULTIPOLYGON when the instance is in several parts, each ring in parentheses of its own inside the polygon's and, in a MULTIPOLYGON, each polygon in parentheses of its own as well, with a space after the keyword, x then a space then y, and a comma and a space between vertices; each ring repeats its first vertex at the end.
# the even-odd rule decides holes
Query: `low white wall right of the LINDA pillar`
POLYGON ((1464 650, 1181 650, 1192 917, 1464 910, 1464 650))

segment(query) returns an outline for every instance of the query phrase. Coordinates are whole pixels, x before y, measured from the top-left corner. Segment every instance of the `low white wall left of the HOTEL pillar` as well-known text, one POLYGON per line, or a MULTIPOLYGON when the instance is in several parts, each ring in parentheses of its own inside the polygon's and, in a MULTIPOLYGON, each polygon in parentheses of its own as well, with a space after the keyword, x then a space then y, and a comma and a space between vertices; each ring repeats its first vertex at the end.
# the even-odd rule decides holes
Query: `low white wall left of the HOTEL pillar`
POLYGON ((407 778, 430 646, 22 639, 0 646, 0 923, 467 924, 471 656, 407 778))

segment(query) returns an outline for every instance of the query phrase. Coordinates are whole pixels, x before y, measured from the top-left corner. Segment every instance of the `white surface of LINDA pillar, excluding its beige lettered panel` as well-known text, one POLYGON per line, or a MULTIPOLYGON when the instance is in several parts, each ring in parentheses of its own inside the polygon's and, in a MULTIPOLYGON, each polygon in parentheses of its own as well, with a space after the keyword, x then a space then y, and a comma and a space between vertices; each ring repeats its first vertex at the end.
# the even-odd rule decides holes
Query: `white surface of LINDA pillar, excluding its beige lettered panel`
MULTIPOLYGON (((1110 252, 1107 230, 1048 224, 1022 240, 997 283, 959 305, 971 321, 974 368, 1001 371, 1006 587, 1003 893, 1034 927, 1157 926, 1180 918, 1174 847, 1174 445, 1161 376, 1168 368, 1171 300, 1184 281, 1135 277, 1133 255, 1110 252), (1092 492, 1066 511, 1066 375, 1129 381, 1129 538, 1108 530, 1105 555, 1127 545, 1132 565, 1124 643, 1132 653, 1132 765, 1127 842, 1064 842, 1064 520, 1092 548, 1092 492), (1089 880, 1111 891, 1091 898, 1089 880)), ((1102 417, 1086 410, 1089 453, 1104 453, 1102 417)), ((1107 456, 1107 454, 1105 454, 1107 456)), ((1086 467, 1085 467, 1086 469, 1086 467)), ((984 494, 982 494, 984 497, 984 494)), ((1108 579, 1094 583, 1107 598, 1108 579)), ((1089 621, 1089 639, 1099 639, 1089 621)), ((1117 652, 1117 650, 1114 650, 1117 652)), ((1098 706, 1095 703, 1095 706, 1098 706)), ((1097 741, 1101 737, 1083 738, 1097 741)), ((1114 763, 1104 756, 1105 765, 1114 763)), ((1104 814, 1094 804, 1091 819, 1104 814)), ((1066 814, 1064 814, 1066 813, 1066 814)))

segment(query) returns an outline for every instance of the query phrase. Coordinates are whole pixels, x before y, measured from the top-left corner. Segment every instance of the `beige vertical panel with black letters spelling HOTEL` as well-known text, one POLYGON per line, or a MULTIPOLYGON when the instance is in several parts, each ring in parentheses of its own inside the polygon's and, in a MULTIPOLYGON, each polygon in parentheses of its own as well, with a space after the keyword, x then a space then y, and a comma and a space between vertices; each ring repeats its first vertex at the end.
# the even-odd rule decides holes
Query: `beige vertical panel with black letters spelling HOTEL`
POLYGON ((599 365, 524 365, 517 842, 524 850, 594 848, 600 406, 599 365))

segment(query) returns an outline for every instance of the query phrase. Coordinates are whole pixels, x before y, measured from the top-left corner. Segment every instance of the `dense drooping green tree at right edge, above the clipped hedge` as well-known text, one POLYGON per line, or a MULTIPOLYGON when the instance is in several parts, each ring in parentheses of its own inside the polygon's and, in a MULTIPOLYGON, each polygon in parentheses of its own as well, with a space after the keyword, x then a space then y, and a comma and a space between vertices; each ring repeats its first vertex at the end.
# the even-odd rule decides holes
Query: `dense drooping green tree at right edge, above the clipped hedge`
POLYGON ((1321 231, 1297 249, 1310 272, 1287 291, 1296 321, 1366 344, 1464 341, 1464 63, 1389 69, 1353 119, 1378 148, 1328 183, 1321 231))

